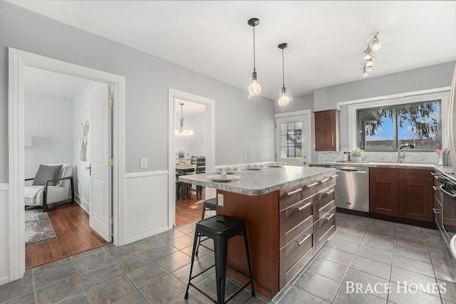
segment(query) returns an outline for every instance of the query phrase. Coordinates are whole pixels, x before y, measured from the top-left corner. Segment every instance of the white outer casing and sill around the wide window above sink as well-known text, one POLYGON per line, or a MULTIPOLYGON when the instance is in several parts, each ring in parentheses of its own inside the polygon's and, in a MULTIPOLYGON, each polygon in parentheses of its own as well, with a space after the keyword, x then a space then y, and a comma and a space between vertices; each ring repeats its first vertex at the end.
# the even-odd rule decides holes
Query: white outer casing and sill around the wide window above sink
MULTIPOLYGON (((426 101, 440 100, 440 109, 448 108, 450 91, 445 88, 437 93, 423 93, 420 91, 414 93, 404 93, 390 96, 380 96, 377 98, 368 98, 366 100, 352 100, 349 102, 338 103, 338 105, 348 106, 348 150, 357 146, 358 141, 358 110, 370 108, 393 107, 396 105, 410 105, 413 103, 423 103, 426 101), (405 96, 407 95, 407 96, 405 96)), ((444 111, 439 109, 440 115, 440 148, 448 146, 448 117, 444 111)), ((366 152, 397 152, 397 150, 370 150, 366 152)), ((430 152, 429 150, 416 150, 416 152, 430 152)))

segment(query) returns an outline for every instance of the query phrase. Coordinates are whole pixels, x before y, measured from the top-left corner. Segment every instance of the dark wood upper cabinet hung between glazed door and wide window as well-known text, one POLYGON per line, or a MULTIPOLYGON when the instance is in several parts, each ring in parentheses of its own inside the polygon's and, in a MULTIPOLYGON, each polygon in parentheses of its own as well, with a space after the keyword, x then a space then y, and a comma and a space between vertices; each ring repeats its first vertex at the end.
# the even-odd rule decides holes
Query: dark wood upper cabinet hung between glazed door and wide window
POLYGON ((339 150, 339 111, 326 110, 315 113, 315 150, 339 150))

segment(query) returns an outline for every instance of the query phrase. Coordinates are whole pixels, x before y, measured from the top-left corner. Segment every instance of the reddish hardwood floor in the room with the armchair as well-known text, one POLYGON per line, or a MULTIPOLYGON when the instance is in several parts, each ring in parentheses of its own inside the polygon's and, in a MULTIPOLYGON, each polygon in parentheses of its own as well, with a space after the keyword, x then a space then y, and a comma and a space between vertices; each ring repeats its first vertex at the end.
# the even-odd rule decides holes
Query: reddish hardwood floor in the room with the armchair
POLYGON ((88 224, 88 214, 78 204, 63 204, 48 211, 57 239, 26 246, 26 268, 56 261, 103 246, 106 242, 88 224))

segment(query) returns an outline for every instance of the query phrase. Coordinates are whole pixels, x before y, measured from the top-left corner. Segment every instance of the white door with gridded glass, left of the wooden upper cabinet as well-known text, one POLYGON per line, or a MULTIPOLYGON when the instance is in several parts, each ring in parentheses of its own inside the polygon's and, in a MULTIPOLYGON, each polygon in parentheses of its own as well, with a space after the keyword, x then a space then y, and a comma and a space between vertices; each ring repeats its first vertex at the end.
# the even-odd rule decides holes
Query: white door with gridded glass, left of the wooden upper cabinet
MULTIPOLYGON (((310 111, 309 111, 310 112, 310 111)), ((311 153, 309 114, 276 116, 276 161, 306 166, 311 153)))

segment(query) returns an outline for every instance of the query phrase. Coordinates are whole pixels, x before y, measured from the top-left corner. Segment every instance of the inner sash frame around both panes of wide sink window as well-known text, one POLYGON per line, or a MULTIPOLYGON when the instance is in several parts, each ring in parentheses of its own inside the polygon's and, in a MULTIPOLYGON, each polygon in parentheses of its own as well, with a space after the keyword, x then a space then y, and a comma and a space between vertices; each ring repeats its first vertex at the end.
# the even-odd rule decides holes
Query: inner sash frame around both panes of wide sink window
MULTIPOLYGON (((433 147, 432 149, 420 149, 419 147, 415 146, 415 149, 414 150, 410 150, 410 152, 433 152, 434 149, 437 149, 438 147, 442 147, 442 100, 441 99, 436 99, 436 100, 425 100, 425 101, 420 101, 420 102, 415 102, 415 103, 399 103, 399 104, 395 104, 395 105, 388 105, 388 106, 385 106, 383 105, 383 107, 375 107, 375 108, 358 108, 358 110, 356 110, 356 130, 358 130, 359 132, 357 132, 357 138, 356 138, 356 142, 359 142, 360 145, 359 147, 361 147, 361 129, 360 129, 360 126, 358 125, 358 123, 360 123, 359 121, 359 112, 361 111, 366 111, 366 110, 378 110, 378 109, 381 109, 381 108, 390 108, 393 112, 393 117, 392 117, 392 120, 393 120, 393 147, 391 149, 378 149, 378 150, 375 150, 375 149, 369 149, 369 150, 366 150, 366 136, 364 136, 364 142, 363 142, 363 150, 366 151, 366 152, 395 152, 399 149, 399 136, 398 136, 398 128, 399 128, 399 125, 398 125, 398 109, 399 108, 403 108, 403 107, 407 107, 407 106, 410 106, 410 105, 423 105, 423 104, 426 104, 426 103, 437 103, 437 146, 436 147, 433 147)), ((366 129, 363 130, 363 133, 366 133, 366 129)))

